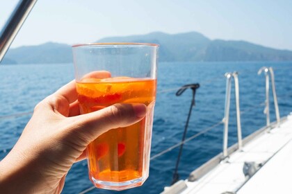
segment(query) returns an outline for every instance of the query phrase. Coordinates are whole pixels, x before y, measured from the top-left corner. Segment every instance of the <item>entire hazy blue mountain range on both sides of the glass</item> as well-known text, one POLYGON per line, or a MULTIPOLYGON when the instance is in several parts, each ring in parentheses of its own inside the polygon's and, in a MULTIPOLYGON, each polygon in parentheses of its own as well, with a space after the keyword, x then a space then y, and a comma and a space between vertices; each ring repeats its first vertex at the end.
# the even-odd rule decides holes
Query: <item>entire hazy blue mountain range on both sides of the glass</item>
MULTIPOLYGON (((149 33, 124 37, 106 37, 97 42, 149 42, 160 44, 161 62, 237 62, 292 61, 292 51, 268 48, 245 41, 211 40, 196 32, 149 33)), ((22 46, 8 51, 1 63, 44 64, 72 62, 72 48, 49 42, 38 46, 22 46)))

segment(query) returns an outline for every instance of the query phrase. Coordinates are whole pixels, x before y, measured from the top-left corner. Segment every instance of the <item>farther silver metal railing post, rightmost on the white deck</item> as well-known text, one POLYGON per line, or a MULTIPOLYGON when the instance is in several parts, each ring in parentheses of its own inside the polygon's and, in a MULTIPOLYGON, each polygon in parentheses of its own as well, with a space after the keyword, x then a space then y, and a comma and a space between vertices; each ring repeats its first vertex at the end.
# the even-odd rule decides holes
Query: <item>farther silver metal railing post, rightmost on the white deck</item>
POLYGON ((276 119, 277 119, 277 126, 279 126, 280 123, 280 116, 279 116, 279 107, 278 107, 278 101, 277 101, 277 94, 276 94, 276 89, 275 89, 275 75, 272 67, 261 67, 258 71, 258 75, 261 74, 261 72, 265 72, 265 77, 266 77, 266 100, 265 104, 266 107, 263 110, 263 113, 266 114, 266 126, 270 126, 270 102, 269 102, 269 86, 270 82, 272 84, 272 91, 273 91, 273 98, 274 98, 274 105, 275 105, 275 114, 276 114, 276 119), (270 78, 270 79, 269 79, 270 78))

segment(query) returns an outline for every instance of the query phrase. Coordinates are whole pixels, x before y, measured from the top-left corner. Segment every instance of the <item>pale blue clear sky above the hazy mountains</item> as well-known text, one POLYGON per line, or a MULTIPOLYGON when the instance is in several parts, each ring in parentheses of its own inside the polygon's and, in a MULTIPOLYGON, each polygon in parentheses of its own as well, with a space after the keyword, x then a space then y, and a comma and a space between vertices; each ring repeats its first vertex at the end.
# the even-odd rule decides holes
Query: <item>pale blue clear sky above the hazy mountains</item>
MULTIPOLYGON (((0 0, 0 26, 17 0, 0 0)), ((38 0, 12 48, 196 31, 292 50, 291 0, 38 0)))

